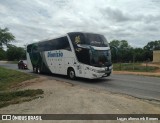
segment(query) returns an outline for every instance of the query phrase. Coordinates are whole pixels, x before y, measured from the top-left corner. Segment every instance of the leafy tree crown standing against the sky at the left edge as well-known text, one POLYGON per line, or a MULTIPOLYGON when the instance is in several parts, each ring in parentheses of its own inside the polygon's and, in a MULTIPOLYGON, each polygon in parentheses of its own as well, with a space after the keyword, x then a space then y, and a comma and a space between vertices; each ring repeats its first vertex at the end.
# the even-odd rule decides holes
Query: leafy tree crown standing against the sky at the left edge
POLYGON ((0 28, 0 47, 3 45, 8 45, 9 42, 15 40, 15 37, 12 33, 9 32, 8 28, 1 29, 0 28))

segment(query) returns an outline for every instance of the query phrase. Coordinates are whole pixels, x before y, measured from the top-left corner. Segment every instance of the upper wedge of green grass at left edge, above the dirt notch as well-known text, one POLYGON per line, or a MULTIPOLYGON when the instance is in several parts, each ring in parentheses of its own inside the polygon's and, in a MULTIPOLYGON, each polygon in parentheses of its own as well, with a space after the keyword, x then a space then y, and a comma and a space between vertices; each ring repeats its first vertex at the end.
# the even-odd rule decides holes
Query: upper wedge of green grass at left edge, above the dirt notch
POLYGON ((0 67, 0 91, 8 90, 16 84, 35 78, 30 74, 0 67))

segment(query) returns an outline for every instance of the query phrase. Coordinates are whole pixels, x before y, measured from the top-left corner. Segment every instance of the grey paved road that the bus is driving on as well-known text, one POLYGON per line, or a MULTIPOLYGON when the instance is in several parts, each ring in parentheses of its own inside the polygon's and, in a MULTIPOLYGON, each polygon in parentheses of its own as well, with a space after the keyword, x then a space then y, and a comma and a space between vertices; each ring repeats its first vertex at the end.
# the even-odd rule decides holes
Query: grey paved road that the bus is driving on
MULTIPOLYGON (((17 65, 15 64, 0 63, 0 66, 18 70, 17 65)), ((33 74, 30 70, 20 70, 20 71, 33 74)), ((67 79, 66 76, 60 76, 60 75, 44 75, 44 76, 47 76, 49 79, 62 80, 72 84, 83 85, 86 87, 95 87, 114 93, 131 95, 142 99, 160 101, 160 78, 156 77, 112 74, 108 78, 103 78, 98 80, 88 80, 88 79, 78 78, 76 81, 73 81, 67 79)))

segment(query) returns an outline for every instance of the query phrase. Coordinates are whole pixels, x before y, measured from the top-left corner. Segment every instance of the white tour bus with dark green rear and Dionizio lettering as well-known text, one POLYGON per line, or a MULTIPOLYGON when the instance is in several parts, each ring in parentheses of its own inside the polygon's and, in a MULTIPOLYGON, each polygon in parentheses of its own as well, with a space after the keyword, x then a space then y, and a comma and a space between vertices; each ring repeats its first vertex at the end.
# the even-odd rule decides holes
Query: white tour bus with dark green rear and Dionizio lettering
POLYGON ((27 46, 28 68, 70 79, 107 77, 112 72, 110 47, 103 35, 71 32, 27 46))

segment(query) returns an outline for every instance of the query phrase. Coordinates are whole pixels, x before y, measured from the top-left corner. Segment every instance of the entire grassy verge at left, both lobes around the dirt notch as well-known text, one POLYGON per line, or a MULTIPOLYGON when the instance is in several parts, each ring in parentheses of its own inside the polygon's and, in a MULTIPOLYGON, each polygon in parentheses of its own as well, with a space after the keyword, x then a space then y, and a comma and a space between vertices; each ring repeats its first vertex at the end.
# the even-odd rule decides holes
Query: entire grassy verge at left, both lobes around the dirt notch
POLYGON ((43 94, 43 90, 21 90, 13 91, 19 83, 33 79, 34 76, 15 70, 0 67, 0 108, 10 104, 30 101, 43 94))

